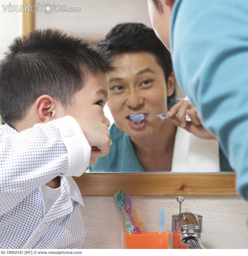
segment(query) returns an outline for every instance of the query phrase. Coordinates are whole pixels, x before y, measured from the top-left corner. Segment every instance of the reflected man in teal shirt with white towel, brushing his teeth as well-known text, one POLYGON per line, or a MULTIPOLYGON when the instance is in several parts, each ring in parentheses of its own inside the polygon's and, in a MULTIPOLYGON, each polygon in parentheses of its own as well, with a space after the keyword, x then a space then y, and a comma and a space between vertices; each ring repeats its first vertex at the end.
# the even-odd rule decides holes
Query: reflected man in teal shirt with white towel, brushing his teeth
POLYGON ((170 53, 152 28, 117 24, 97 47, 107 49, 116 68, 107 74, 113 144, 90 171, 231 171, 196 109, 187 98, 176 98, 170 53), (171 118, 130 118, 167 112, 171 118))

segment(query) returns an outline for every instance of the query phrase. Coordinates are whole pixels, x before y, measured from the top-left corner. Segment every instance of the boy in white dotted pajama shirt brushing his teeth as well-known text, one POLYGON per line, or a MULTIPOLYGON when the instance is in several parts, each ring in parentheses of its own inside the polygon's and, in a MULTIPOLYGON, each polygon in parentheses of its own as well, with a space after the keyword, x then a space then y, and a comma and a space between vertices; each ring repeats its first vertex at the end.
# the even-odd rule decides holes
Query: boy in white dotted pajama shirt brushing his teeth
POLYGON ((111 62, 58 30, 9 49, 0 65, 0 247, 81 248, 83 200, 69 176, 109 152, 111 62))

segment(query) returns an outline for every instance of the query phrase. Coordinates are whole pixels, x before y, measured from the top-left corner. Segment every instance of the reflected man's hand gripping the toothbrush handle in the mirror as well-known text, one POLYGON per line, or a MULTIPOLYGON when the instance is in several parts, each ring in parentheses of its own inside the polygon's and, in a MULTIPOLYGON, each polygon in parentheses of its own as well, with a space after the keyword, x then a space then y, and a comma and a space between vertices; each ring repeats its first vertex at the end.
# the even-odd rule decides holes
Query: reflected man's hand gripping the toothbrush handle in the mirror
POLYGON ((170 110, 167 112, 167 115, 168 117, 171 117, 171 122, 173 122, 176 126, 184 128, 185 130, 191 132, 197 137, 200 137, 202 139, 216 139, 202 126, 202 122, 200 120, 198 112, 190 104, 189 101, 182 100, 178 102, 170 108, 170 110), (176 114, 177 118, 174 117, 176 114), (191 122, 186 121, 186 114, 188 114, 188 116, 191 118, 191 122))

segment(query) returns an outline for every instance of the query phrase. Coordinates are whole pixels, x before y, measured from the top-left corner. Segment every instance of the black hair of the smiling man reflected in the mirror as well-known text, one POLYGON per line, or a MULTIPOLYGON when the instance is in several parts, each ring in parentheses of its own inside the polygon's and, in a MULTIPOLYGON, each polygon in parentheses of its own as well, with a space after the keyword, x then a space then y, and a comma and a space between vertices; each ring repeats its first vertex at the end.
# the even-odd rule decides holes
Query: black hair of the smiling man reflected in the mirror
MULTIPOLYGON (((155 56, 157 63, 163 68, 165 81, 173 72, 170 52, 157 38, 154 30, 141 23, 121 23, 113 27, 98 47, 107 50, 111 56, 122 53, 147 52, 155 56)), ((168 99, 174 98, 176 92, 168 99)))

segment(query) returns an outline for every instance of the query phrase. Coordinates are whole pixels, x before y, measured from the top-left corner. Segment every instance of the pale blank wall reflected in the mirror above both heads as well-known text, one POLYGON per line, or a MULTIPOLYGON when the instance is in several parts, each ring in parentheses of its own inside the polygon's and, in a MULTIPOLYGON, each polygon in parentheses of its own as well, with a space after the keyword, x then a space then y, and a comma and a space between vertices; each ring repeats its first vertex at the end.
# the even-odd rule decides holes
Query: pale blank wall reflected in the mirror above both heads
MULTIPOLYGON (((39 1, 40 4, 49 2, 54 3, 39 1)), ((77 7, 81 10, 72 13, 35 13, 35 28, 59 28, 89 36, 93 40, 101 40, 118 23, 140 22, 152 27, 145 0, 58 0, 56 5, 77 7)))

